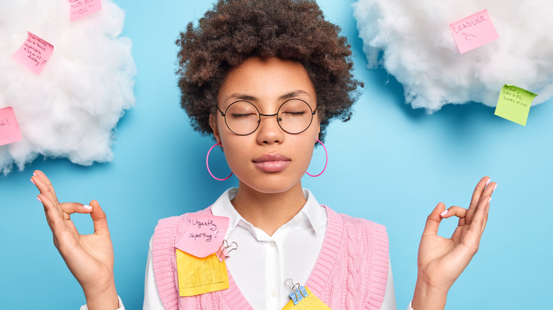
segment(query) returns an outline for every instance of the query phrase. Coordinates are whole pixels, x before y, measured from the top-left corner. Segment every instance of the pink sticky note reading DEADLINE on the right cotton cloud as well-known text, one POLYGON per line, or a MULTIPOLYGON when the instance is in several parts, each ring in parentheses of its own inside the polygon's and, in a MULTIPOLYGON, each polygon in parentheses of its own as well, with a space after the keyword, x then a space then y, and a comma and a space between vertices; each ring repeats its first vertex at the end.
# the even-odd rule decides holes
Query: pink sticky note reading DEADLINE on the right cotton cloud
POLYGON ((488 10, 479 11, 460 21, 450 23, 449 28, 461 54, 499 38, 488 10))

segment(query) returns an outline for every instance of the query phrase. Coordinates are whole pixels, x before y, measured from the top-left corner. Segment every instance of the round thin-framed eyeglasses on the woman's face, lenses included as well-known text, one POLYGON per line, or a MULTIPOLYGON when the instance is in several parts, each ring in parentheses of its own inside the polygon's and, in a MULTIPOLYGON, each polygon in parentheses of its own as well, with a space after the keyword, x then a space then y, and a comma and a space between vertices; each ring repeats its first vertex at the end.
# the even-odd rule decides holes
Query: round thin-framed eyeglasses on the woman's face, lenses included
POLYGON ((311 106, 301 99, 284 101, 277 113, 274 114, 261 114, 253 103, 243 100, 230 103, 224 113, 218 107, 217 110, 221 116, 225 117, 228 129, 240 136, 255 132, 262 116, 276 116, 277 122, 284 132, 299 134, 311 126, 313 115, 317 113, 317 108, 313 111, 311 106))

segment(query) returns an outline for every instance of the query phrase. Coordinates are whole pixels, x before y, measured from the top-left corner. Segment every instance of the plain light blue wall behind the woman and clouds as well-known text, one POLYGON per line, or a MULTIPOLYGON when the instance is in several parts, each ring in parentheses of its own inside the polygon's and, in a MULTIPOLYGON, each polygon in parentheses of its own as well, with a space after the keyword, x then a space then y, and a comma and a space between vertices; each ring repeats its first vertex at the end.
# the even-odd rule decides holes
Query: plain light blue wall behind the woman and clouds
MULTIPOLYGON (((350 122, 333 123, 327 171, 306 176, 321 203, 338 212, 385 224, 390 239, 398 309, 413 296, 418 241, 437 202, 466 207, 476 182, 491 176, 491 202, 479 253, 449 292, 447 309, 543 309, 552 287, 549 224, 553 172, 550 135, 553 101, 530 110, 527 126, 493 115, 479 103, 447 105, 427 115, 406 105, 403 88, 382 69, 367 70, 352 17, 353 1, 321 0, 328 20, 342 27, 365 82, 350 122)), ((137 103, 116 128, 113 162, 77 166, 66 159, 37 159, 0 178, 2 309, 79 309, 84 296, 52 245, 34 169, 50 176, 62 201, 99 200, 108 214, 118 293, 127 309, 141 309, 147 242, 158 219, 201 209, 233 177, 213 180, 203 162, 212 145, 189 127, 179 108, 174 40, 211 1, 117 0, 126 12, 123 35, 133 40, 138 67, 137 103)), ((505 81, 508 82, 508 81, 505 81)), ((318 148, 310 171, 322 168, 318 148)), ((218 174, 228 169, 212 158, 218 174)), ((83 233, 88 216, 72 217, 83 233)), ((449 235, 456 221, 440 228, 449 235)))

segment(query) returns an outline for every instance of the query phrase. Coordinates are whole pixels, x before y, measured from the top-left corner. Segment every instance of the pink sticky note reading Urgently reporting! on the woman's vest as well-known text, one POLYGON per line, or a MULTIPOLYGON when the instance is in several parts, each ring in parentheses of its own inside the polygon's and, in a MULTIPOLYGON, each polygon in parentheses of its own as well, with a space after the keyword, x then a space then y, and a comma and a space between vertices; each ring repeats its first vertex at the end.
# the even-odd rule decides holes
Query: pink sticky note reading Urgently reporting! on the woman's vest
POLYGON ((228 222, 228 217, 191 214, 190 224, 175 247, 199 258, 216 253, 225 239, 228 222))

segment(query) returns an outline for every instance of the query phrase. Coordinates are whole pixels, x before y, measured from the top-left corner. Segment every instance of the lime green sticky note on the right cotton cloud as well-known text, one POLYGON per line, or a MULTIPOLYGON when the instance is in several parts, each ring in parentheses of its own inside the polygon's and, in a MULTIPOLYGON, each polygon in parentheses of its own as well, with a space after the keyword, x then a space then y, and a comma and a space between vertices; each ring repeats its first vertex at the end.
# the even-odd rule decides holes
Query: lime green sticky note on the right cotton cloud
POLYGON ((535 96, 535 93, 523 88, 505 84, 499 94, 495 115, 526 126, 530 105, 535 96))

